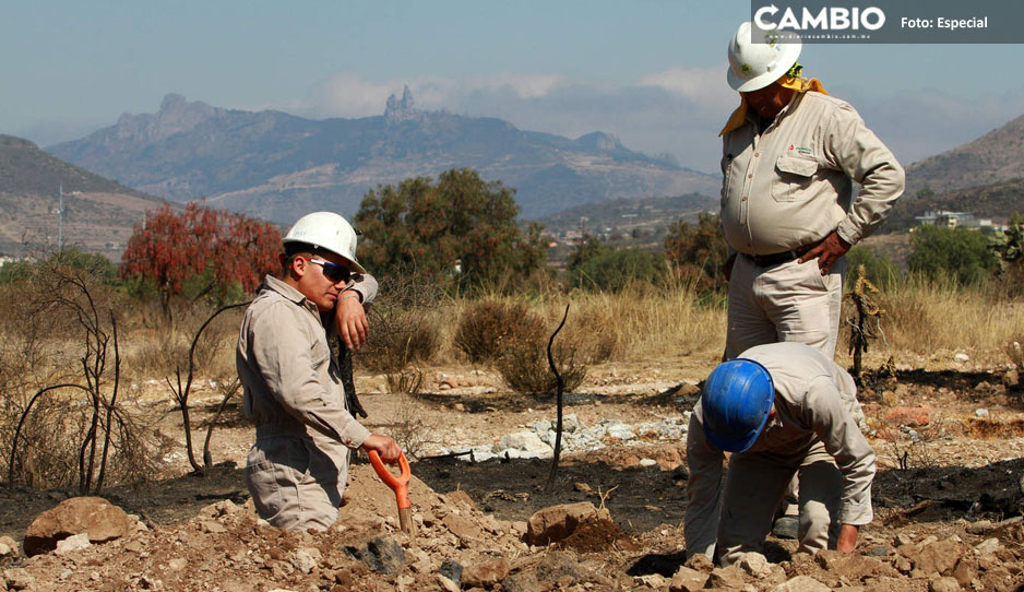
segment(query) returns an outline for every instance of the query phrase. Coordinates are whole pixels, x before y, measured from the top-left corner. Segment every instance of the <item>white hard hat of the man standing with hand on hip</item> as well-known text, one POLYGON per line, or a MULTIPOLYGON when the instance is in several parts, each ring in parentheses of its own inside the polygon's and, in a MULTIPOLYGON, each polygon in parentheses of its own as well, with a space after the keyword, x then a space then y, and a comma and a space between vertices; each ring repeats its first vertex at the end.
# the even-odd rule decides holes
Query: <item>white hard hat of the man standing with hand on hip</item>
POLYGON ((749 22, 739 25, 729 42, 729 86, 749 93, 781 79, 797 62, 803 47, 796 33, 787 31, 786 38, 787 43, 778 43, 774 31, 751 32, 749 22), (757 38, 751 38, 751 33, 757 38))

